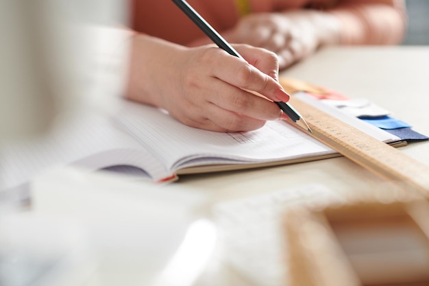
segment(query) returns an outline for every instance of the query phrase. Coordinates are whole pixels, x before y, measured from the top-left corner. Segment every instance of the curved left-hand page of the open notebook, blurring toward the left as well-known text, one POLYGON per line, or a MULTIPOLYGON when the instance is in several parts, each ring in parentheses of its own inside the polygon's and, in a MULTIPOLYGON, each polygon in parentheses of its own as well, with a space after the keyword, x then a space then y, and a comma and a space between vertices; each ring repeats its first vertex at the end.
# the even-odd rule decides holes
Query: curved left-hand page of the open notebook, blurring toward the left
POLYGON ((41 170, 62 165, 90 170, 133 165, 144 167, 148 176, 165 174, 164 167, 108 117, 84 113, 58 123, 47 136, 2 146, 0 190, 24 184, 41 170))

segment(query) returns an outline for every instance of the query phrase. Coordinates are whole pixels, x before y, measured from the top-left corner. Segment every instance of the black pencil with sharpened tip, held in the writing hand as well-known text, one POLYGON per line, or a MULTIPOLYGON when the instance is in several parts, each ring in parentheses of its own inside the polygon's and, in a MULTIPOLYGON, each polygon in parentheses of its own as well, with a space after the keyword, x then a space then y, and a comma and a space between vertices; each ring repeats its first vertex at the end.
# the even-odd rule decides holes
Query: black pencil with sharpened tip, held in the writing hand
MULTIPOLYGON (((206 34, 210 40, 212 40, 218 47, 226 51, 232 56, 236 56, 237 58, 244 58, 209 24, 204 18, 198 14, 194 8, 191 7, 185 0, 172 0, 177 7, 180 8, 189 17, 198 27, 201 29, 204 34, 206 34)), ((304 128, 304 130, 308 130, 308 132, 312 133, 310 127, 306 123, 304 117, 302 117, 295 108, 293 108, 287 102, 275 102, 278 107, 287 115, 293 122, 295 122, 299 127, 304 128)))

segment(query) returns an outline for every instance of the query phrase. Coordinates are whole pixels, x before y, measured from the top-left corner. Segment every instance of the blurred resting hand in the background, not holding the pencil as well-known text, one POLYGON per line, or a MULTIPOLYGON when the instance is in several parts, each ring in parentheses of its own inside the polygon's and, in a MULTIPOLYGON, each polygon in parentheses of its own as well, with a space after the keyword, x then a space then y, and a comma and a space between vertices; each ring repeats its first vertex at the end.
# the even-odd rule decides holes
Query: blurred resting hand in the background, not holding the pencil
POLYGON ((245 16, 223 33, 231 43, 246 43, 273 51, 284 69, 314 53, 321 45, 338 43, 339 23, 327 13, 294 10, 245 16))

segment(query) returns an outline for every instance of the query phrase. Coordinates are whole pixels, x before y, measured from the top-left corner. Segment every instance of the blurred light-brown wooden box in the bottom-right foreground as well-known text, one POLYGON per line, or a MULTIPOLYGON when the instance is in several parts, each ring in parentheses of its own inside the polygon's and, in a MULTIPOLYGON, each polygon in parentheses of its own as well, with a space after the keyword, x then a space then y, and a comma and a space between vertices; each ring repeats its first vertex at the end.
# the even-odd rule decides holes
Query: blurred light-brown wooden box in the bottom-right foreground
POLYGON ((288 212, 291 285, 429 285, 429 204, 377 200, 288 212))

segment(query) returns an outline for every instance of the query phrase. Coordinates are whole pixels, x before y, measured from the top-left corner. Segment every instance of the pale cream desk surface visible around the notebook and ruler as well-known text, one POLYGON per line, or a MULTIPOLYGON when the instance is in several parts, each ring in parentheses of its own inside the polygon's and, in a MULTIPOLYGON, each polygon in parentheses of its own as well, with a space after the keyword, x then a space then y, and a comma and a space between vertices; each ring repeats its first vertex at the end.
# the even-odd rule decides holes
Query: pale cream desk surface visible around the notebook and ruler
MULTIPOLYGON (((332 88, 348 97, 366 97, 423 134, 429 134, 429 97, 425 96, 429 91, 428 75, 429 47, 331 47, 282 73, 282 76, 332 88)), ((429 142, 413 143, 400 150, 429 165, 429 142)), ((384 180, 347 158, 331 158, 181 176, 170 189, 195 190, 208 195, 215 204, 310 183, 323 184, 345 195, 378 189, 384 180)), ((202 279, 197 285, 249 285, 226 267, 218 274, 215 279, 202 279)))

